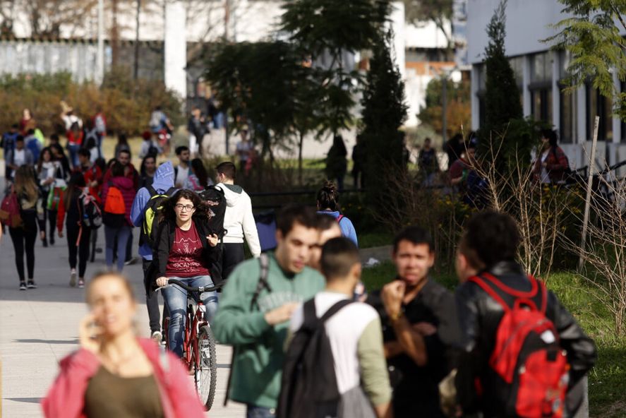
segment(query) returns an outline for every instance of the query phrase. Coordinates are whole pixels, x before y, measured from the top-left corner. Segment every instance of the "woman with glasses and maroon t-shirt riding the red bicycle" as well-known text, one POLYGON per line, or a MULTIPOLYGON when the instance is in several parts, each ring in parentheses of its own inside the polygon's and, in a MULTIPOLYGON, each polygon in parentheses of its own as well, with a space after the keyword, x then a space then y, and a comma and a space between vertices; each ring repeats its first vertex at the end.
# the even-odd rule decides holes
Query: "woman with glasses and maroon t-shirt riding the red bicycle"
MULTIPOLYGON (((217 235, 208 225, 207 205, 193 191, 179 190, 164 203, 162 214, 154 261, 157 285, 161 287, 169 279, 176 279, 190 287, 211 287, 210 267, 217 257, 217 235)), ((182 357, 187 291, 172 285, 163 289, 163 297, 170 316, 169 349, 182 357)), ((217 310, 217 292, 204 292, 200 298, 206 306, 207 321, 212 321, 217 310)))

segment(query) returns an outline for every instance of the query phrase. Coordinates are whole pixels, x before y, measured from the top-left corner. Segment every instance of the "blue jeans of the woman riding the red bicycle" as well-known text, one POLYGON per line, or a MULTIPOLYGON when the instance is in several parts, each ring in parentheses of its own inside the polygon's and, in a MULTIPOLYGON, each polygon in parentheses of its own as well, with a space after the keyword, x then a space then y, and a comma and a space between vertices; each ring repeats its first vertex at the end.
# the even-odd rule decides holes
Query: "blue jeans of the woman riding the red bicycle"
MULTIPOLYGON (((210 287, 213 285, 210 276, 168 278, 180 280, 190 287, 210 287)), ((183 332, 187 321, 187 291, 181 289, 180 286, 172 285, 163 289, 163 297, 169 309, 169 328, 167 330, 169 350, 177 356, 183 357, 183 332)), ((205 318, 211 322, 215 316, 215 311, 217 311, 217 292, 204 292, 200 294, 200 299, 207 309, 205 318)))

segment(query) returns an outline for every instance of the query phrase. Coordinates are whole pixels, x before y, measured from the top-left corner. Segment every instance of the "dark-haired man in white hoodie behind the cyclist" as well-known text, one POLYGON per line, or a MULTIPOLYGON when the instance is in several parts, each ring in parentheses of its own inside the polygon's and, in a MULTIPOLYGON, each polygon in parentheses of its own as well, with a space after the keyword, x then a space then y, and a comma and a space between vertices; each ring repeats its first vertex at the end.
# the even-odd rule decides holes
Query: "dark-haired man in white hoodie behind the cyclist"
POLYGON ((252 215, 252 202, 246 191, 235 183, 236 168, 230 162, 221 162, 215 168, 217 186, 224 190, 226 197, 226 213, 224 214, 224 235, 222 242, 222 277, 224 280, 243 261, 243 237, 246 237, 248 248, 257 258, 261 253, 258 231, 252 215))

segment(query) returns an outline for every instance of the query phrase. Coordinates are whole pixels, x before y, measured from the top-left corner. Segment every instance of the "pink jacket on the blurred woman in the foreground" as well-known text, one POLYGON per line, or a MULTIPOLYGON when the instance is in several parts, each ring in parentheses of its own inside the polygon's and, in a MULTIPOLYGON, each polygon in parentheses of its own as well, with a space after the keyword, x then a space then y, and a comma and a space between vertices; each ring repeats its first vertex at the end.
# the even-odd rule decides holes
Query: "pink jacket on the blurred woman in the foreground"
MULTIPOLYGON (((203 418, 203 405, 181 361, 171 352, 162 354, 152 340, 140 338, 138 342, 155 371, 165 418, 203 418)), ((59 376, 42 400, 45 417, 85 417, 85 391, 100 361, 92 352, 80 349, 62 359, 59 366, 59 376)))

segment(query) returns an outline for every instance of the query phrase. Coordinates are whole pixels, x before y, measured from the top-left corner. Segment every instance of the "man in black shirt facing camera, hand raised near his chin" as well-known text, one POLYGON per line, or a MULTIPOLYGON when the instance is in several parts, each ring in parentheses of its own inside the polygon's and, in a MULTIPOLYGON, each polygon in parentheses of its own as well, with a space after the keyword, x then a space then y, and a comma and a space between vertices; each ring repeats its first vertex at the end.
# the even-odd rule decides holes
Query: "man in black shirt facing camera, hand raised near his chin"
POLYGON ((392 257, 395 280, 366 303, 378 311, 383 326, 394 416, 443 417, 438 384, 450 371, 447 347, 457 338, 455 299, 428 274, 435 251, 426 230, 407 227, 397 234, 392 257))

